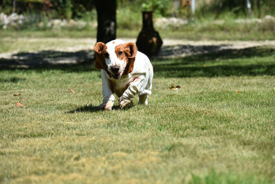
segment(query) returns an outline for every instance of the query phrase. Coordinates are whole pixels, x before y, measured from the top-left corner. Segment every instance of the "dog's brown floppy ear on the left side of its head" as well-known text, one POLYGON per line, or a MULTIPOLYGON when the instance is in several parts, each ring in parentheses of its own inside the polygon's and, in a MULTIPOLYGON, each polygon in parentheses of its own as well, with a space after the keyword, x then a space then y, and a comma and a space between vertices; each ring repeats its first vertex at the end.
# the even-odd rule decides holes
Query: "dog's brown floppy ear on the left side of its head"
POLYGON ((107 45, 105 45, 102 42, 98 42, 98 43, 96 43, 94 50, 96 52, 96 61, 95 61, 96 68, 102 69, 102 70, 107 70, 107 65, 106 65, 105 59, 103 57, 103 53, 107 50, 107 45))

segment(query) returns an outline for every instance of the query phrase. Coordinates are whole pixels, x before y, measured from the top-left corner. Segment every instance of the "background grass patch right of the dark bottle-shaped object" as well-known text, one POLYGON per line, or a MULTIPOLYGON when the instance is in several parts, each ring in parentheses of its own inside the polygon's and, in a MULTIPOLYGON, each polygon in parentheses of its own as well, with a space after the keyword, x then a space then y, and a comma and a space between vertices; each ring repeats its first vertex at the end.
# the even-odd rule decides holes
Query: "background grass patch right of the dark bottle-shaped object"
POLYGON ((180 28, 159 29, 163 37, 190 40, 274 40, 275 21, 262 19, 262 22, 237 23, 237 19, 225 16, 219 20, 195 18, 193 23, 180 28), (219 23, 221 21, 221 23, 219 23))

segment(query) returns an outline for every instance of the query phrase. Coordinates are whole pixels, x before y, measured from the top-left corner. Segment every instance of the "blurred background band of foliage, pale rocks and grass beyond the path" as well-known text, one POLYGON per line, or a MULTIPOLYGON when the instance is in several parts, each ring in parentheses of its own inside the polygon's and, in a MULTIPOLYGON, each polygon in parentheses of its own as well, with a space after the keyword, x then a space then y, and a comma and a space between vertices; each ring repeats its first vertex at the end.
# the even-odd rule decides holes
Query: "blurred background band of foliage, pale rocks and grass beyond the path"
MULTIPOLYGON (((0 32, 43 31, 47 36, 54 32, 59 37, 96 37, 95 2, 2 0, 0 32)), ((109 4, 106 0, 104 3, 109 4)), ((117 37, 137 37, 142 11, 153 11, 154 27, 164 38, 275 38, 275 1, 270 0, 117 0, 113 8, 117 37)))

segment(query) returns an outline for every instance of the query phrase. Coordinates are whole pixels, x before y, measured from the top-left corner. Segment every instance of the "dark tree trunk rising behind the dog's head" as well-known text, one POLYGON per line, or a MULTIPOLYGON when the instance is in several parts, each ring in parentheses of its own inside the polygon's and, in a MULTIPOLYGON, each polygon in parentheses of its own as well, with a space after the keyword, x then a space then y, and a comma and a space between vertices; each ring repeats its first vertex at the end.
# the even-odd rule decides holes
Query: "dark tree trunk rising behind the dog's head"
POLYGON ((94 1, 98 14, 98 32, 96 40, 107 43, 116 37, 116 1, 94 1))

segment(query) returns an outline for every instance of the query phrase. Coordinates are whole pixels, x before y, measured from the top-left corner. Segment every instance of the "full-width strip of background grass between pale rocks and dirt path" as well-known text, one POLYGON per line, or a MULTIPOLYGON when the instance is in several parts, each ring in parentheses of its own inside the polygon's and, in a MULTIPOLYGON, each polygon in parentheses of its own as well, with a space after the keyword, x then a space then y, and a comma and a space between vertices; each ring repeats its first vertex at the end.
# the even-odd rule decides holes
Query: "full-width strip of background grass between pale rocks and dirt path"
MULTIPOLYGON (((198 21, 183 25, 181 28, 155 28, 162 38, 166 39, 187 39, 187 40, 273 40, 275 23, 258 25, 256 23, 233 23, 232 21, 222 25, 213 22, 198 21), (267 27, 267 28, 266 28, 267 27)), ((138 28, 118 28, 117 37, 137 38, 141 27, 138 28)), ((94 30, 1 30, 2 38, 95 38, 94 30)))

